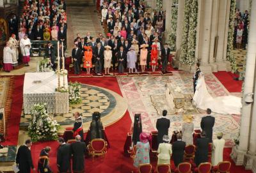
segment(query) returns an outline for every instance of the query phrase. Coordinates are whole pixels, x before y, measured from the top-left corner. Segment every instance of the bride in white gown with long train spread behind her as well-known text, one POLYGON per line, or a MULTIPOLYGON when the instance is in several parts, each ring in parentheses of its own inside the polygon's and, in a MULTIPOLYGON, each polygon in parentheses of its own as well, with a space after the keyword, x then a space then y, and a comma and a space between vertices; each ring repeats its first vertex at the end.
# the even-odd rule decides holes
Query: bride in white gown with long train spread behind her
POLYGON ((241 98, 231 95, 212 98, 211 94, 207 91, 204 75, 202 73, 200 73, 196 84, 193 102, 199 109, 206 110, 209 108, 212 112, 220 114, 241 114, 241 98))

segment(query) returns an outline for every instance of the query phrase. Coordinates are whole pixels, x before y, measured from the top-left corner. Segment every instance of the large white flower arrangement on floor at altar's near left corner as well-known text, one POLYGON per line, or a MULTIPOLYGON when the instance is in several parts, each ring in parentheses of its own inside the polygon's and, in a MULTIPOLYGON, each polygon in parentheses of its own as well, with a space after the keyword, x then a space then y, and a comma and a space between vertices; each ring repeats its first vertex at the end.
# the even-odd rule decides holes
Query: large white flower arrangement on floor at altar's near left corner
POLYGON ((33 142, 42 140, 56 140, 60 124, 47 114, 46 104, 35 104, 31 109, 31 122, 28 135, 33 142))

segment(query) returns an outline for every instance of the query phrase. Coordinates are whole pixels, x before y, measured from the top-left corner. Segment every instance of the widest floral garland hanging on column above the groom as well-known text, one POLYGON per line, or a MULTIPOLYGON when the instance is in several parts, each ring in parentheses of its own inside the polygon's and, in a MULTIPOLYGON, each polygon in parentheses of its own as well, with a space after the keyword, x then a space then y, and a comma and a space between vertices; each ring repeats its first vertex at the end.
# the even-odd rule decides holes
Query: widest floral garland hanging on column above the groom
POLYGON ((180 64, 191 66, 196 62, 196 25, 198 3, 197 0, 186 0, 184 9, 184 26, 180 47, 180 64))

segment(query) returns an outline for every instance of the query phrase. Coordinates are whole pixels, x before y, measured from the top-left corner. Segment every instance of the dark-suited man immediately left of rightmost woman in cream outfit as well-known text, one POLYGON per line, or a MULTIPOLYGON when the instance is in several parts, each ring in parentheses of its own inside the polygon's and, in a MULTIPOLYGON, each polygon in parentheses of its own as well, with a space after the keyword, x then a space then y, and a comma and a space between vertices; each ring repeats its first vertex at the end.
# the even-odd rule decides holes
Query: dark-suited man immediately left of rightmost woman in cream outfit
POLYGON ((208 147, 210 140, 205 137, 205 132, 201 132, 201 138, 196 139, 196 153, 195 153, 195 163, 196 167, 200 163, 208 162, 208 147))

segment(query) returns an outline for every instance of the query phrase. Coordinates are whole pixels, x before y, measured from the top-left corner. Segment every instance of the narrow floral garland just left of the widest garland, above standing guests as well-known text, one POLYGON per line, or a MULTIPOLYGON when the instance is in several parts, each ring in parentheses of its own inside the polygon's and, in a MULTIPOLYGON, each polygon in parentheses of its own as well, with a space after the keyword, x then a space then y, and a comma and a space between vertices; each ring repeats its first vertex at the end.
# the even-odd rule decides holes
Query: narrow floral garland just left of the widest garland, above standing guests
MULTIPOLYGON (((173 0, 173 4, 178 4, 179 0, 173 0)), ((178 8, 172 7, 171 10, 171 31, 169 34, 169 45, 172 51, 176 50, 176 32, 177 32, 177 19, 178 19, 178 8)))

